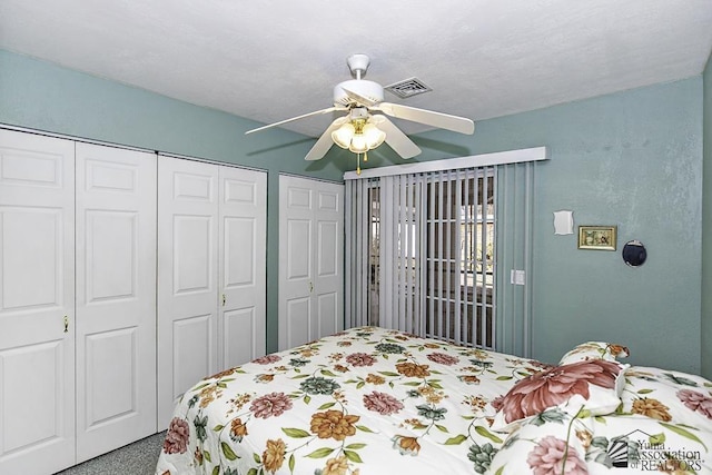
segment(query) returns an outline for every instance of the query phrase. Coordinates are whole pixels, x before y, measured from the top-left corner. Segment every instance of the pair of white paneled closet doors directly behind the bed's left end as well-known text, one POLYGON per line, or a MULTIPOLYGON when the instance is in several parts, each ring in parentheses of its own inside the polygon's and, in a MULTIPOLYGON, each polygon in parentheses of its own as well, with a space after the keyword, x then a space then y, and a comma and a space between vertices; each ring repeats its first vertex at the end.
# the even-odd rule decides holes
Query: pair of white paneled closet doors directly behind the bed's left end
POLYGON ((265 352, 266 175, 159 157, 158 426, 206 376, 265 352))

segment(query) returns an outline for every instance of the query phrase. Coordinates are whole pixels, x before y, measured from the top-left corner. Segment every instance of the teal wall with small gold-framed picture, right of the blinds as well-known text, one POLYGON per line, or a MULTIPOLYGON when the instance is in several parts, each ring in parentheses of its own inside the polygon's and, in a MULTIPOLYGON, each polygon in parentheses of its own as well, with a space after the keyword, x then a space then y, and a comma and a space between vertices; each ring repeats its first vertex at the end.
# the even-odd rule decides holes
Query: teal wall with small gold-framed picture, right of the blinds
POLYGON ((634 364, 700 372, 701 98, 698 77, 485 120, 472 137, 418 140, 447 137, 472 154, 548 147, 535 171, 535 358, 556 363, 595 339, 627 345, 634 364), (617 250, 578 250, 575 236, 555 236, 560 209, 573 210, 576 226, 616 225, 617 250), (649 251, 639 268, 621 258, 630 239, 649 251))

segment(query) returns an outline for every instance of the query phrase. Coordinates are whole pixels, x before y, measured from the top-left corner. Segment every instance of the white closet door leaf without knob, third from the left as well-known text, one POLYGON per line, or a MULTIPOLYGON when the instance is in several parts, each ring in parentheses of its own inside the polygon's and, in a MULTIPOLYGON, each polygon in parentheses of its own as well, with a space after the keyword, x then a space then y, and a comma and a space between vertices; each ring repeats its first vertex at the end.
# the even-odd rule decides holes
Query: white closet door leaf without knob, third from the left
POLYGON ((217 372, 218 167, 158 157, 158 428, 217 372))

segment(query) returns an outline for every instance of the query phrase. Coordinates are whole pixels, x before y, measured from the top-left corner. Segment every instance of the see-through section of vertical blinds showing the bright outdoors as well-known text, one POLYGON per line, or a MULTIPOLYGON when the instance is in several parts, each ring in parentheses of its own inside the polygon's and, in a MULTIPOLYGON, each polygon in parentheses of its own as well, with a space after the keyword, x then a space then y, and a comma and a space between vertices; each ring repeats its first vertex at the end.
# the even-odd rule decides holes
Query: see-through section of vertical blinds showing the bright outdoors
POLYGON ((427 336, 493 347, 494 176, 494 167, 483 167, 429 177, 427 336))

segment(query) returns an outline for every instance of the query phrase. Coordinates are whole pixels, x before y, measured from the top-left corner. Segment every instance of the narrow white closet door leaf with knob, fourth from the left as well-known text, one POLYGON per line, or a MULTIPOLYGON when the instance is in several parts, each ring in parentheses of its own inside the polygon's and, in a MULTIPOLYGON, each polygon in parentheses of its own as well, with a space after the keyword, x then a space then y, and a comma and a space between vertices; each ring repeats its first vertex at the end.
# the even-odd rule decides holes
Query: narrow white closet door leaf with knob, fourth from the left
POLYGON ((219 167, 219 369, 265 354, 267 175, 219 167))

